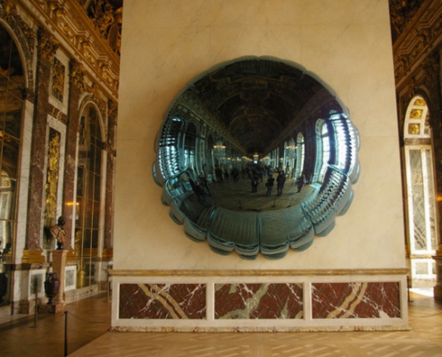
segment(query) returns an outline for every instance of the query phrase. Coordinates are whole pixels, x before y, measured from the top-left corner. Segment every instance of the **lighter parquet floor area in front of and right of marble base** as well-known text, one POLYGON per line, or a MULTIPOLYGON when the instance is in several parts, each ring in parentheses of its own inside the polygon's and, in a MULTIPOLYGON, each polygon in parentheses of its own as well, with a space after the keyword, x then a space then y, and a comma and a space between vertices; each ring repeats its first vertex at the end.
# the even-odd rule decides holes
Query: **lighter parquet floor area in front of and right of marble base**
POLYGON ((107 333, 72 357, 442 357, 442 303, 413 295, 412 331, 107 333))

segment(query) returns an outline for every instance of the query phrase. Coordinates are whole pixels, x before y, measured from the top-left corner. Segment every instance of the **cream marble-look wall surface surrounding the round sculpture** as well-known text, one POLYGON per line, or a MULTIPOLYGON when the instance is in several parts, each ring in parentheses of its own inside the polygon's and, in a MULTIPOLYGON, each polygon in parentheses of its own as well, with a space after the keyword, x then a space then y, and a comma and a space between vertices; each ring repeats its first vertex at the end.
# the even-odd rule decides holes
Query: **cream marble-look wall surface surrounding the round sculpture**
POLYGON ((130 0, 124 4, 114 269, 404 268, 388 0, 130 0), (179 90, 213 65, 271 55, 313 71, 361 136, 354 202, 327 237, 279 261, 221 256, 186 237, 154 184, 154 137, 179 90))

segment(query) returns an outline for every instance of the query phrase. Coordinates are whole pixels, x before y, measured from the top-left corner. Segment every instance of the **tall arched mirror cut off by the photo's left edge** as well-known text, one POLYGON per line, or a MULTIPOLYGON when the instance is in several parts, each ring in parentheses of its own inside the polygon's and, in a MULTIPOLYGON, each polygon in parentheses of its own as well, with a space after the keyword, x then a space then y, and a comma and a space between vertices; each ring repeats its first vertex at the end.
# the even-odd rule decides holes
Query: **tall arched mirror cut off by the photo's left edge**
MULTIPOLYGON (((7 245, 9 254, 15 250, 13 236, 17 226, 15 211, 21 162, 24 74, 21 54, 13 37, 0 25, 0 249, 7 245)), ((13 262, 11 255, 3 259, 13 262)), ((9 298, 6 296, 4 301, 9 298)))

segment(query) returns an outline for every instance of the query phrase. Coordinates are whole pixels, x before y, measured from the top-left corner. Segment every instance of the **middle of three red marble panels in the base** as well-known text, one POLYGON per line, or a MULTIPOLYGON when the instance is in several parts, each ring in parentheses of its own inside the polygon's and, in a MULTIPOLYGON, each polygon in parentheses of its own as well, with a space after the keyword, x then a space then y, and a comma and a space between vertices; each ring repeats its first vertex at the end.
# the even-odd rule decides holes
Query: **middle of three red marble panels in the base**
POLYGON ((302 319, 301 284, 215 284, 215 319, 302 319))

